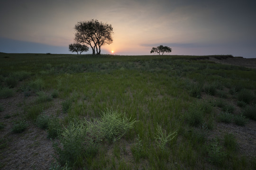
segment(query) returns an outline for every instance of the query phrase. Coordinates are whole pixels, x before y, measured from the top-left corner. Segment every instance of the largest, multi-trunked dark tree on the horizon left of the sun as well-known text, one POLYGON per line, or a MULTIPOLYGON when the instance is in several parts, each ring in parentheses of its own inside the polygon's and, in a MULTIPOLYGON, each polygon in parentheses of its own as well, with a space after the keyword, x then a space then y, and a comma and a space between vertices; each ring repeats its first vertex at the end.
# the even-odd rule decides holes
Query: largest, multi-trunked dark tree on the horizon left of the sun
POLYGON ((97 19, 78 22, 75 25, 75 41, 85 43, 91 47, 92 54, 101 54, 101 46, 113 42, 113 28, 110 24, 104 24, 97 19))

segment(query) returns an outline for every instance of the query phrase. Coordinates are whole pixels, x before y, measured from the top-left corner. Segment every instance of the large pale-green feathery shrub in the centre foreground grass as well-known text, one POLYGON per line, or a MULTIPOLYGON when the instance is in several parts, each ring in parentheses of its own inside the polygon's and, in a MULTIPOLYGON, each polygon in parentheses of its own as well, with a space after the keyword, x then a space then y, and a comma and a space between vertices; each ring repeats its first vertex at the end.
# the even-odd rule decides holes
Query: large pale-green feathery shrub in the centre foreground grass
POLYGON ((129 129, 134 127, 136 120, 126 118, 114 110, 102 111, 99 119, 92 119, 86 121, 88 126, 88 133, 95 141, 102 139, 108 141, 116 141, 120 139, 129 129))

